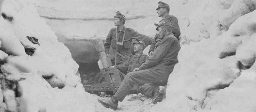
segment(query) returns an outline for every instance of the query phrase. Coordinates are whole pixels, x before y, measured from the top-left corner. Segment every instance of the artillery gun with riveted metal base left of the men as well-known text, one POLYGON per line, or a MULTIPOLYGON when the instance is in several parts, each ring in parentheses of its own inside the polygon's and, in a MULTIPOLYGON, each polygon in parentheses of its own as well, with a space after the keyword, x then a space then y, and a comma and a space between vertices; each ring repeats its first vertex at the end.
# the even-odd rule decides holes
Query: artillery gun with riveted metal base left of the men
MULTIPOLYGON (((99 70, 96 70, 97 72, 93 72, 93 80, 86 84, 83 83, 85 91, 89 92, 90 94, 100 95, 103 93, 107 95, 113 95, 123 81, 119 75, 119 71, 116 68, 111 68, 111 60, 110 58, 106 57, 105 54, 105 49, 103 46, 104 40, 104 37, 82 38, 73 36, 63 42, 70 50, 72 58, 77 63, 80 63, 81 61, 88 62, 99 59, 99 70), (83 51, 82 48, 85 49, 85 47, 91 49, 89 51, 83 51)), ((81 78, 83 78, 82 75, 81 78)), ((132 89, 131 93, 134 93, 134 91, 135 89, 132 89)))

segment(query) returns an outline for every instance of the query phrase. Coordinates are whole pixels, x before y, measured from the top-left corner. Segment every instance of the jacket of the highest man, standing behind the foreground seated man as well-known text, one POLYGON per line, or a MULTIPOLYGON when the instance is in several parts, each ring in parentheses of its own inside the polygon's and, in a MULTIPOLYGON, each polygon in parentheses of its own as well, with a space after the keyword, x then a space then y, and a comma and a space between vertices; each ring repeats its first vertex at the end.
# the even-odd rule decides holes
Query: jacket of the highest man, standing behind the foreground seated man
MULTIPOLYGON (((162 19, 162 20, 167 20, 167 21, 171 22, 171 24, 172 24, 172 33, 176 38, 179 38, 180 35, 181 35, 181 31, 180 31, 180 26, 178 24, 178 19, 175 16, 168 14, 167 17, 165 19, 162 19)), ((156 34, 155 38, 152 40, 151 47, 150 47, 150 50, 149 50, 148 53, 150 53, 151 51, 154 51, 157 39, 159 39, 159 37, 156 34)))

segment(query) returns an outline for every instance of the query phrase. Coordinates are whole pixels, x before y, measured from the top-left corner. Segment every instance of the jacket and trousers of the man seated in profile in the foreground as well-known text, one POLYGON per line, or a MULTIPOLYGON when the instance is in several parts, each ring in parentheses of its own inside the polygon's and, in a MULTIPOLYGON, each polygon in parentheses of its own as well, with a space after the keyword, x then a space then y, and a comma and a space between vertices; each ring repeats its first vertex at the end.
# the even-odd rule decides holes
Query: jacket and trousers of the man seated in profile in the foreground
MULTIPOLYGON (((178 62, 177 56, 180 49, 180 43, 172 33, 157 41, 152 56, 139 67, 139 71, 130 72, 125 76, 114 97, 123 101, 134 84, 166 85, 174 65, 178 62)), ((151 88, 154 90, 155 86, 151 88)), ((143 92, 150 93, 152 92, 150 90, 152 89, 143 92)))

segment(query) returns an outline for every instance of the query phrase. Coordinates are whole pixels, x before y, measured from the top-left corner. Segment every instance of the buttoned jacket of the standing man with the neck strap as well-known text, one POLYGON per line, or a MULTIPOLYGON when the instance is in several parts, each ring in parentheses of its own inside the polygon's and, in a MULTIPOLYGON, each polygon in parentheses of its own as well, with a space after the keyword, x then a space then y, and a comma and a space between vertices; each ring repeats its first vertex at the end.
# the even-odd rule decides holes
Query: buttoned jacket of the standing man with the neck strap
MULTIPOLYGON (((125 32, 125 37, 124 37, 124 45, 122 46, 122 49, 120 51, 120 54, 126 56, 128 59, 131 56, 131 43, 132 39, 140 39, 144 41, 145 44, 150 45, 151 44, 151 38, 140 34, 137 31, 134 31, 131 28, 123 28, 123 30, 117 31, 117 37, 118 37, 118 42, 122 42, 123 36, 125 32), (125 30, 126 29, 126 30, 125 30)), ((115 48, 116 48, 116 28, 112 28, 109 31, 108 36, 106 37, 106 41, 104 42, 104 48, 106 54, 109 54, 108 57, 111 59, 112 62, 115 61, 115 48)), ((122 64, 123 62, 126 61, 125 58, 120 57, 117 55, 117 65, 122 64)))

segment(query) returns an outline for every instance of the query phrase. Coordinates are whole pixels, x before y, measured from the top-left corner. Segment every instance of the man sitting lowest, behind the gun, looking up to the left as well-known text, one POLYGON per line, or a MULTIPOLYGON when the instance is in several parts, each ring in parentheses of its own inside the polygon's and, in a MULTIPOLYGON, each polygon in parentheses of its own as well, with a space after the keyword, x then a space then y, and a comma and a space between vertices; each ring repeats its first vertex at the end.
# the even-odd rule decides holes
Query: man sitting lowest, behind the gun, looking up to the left
POLYGON ((124 79, 125 74, 132 72, 134 68, 139 68, 149 57, 143 54, 145 43, 140 39, 135 39, 134 45, 135 54, 126 60, 123 64, 115 66, 121 73, 122 79, 124 79))

